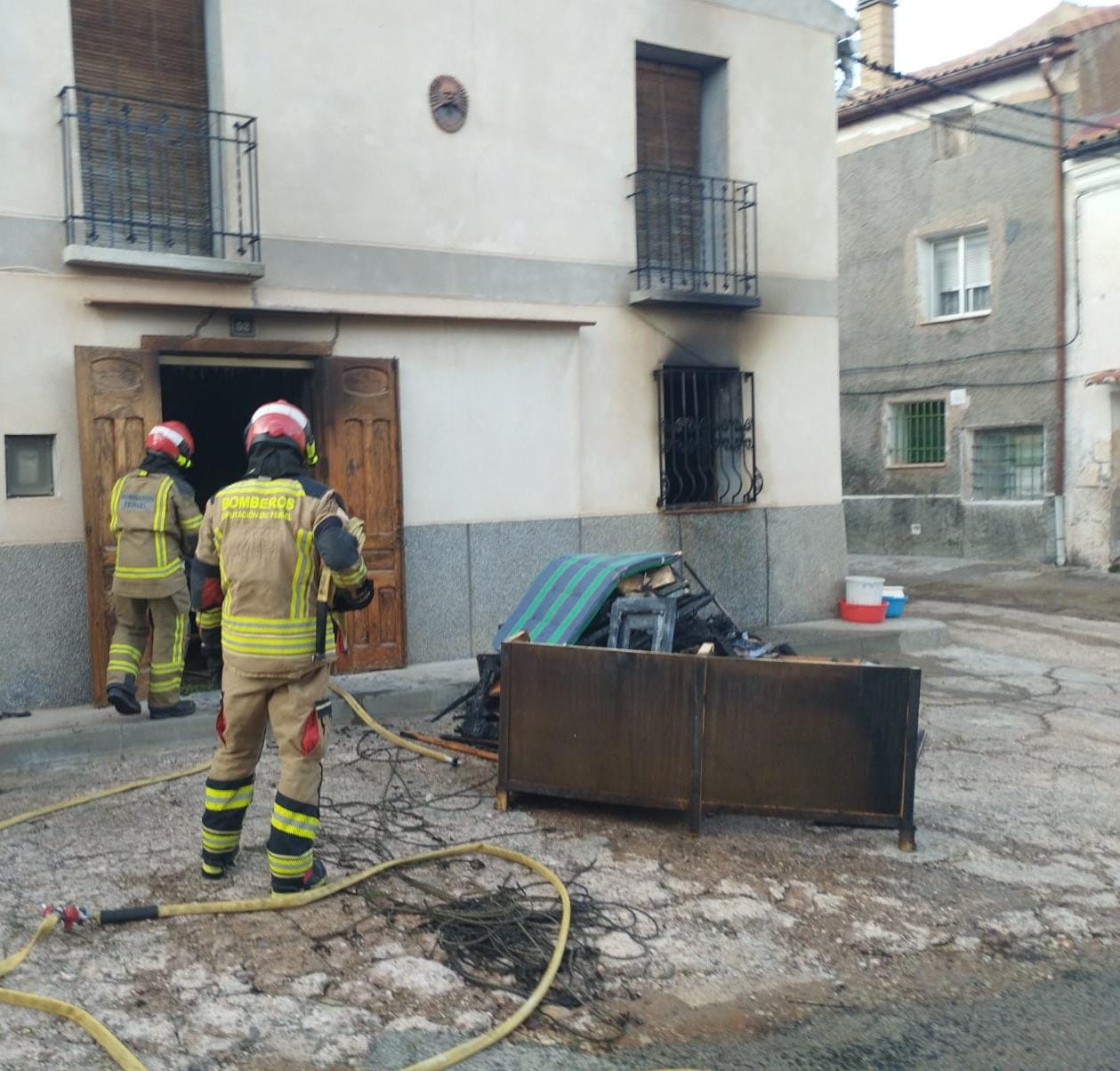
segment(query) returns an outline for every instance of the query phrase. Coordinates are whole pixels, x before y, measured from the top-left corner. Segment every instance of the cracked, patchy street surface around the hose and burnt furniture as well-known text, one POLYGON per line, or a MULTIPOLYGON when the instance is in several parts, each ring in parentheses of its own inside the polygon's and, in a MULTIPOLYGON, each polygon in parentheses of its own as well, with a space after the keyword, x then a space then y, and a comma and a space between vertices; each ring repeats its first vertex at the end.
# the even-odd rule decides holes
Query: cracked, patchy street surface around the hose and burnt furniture
MULTIPOLYGON (((485 764, 370 762, 362 734, 339 734, 323 841, 335 872, 371 837, 382 856, 496 839, 616 905, 582 1006, 550 1006, 464 1067, 1120 1069, 1120 577, 936 559, 860 558, 852 572, 902 584, 908 615, 950 630, 948 646, 880 659, 922 669, 913 855, 889 831, 732 814, 694 838, 679 816, 637 810, 496 813, 485 764)), ((0 818, 202 757, 6 776, 0 818)), ((197 877, 198 792, 174 781, 8 830, 0 954, 43 901, 256 895, 267 808, 215 890, 197 877)), ((489 863, 418 876, 452 895, 519 877, 489 863)), ((517 1003, 458 976, 416 915, 379 898, 405 892, 52 935, 7 981, 76 1000, 150 1071, 390 1071, 517 1003)), ((36 1013, 0 1007, 0 1036, 4 1071, 112 1065, 36 1013)))

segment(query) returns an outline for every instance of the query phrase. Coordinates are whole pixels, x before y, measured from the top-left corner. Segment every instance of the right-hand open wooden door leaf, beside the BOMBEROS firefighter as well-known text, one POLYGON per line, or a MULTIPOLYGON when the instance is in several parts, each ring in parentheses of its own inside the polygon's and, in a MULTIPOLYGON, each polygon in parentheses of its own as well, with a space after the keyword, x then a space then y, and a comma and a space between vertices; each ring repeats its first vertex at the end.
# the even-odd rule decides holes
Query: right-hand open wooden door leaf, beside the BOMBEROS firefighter
POLYGON ((349 654, 338 670, 404 664, 404 557, 396 361, 319 362, 320 453, 325 478, 365 521, 365 564, 375 595, 346 615, 349 654))

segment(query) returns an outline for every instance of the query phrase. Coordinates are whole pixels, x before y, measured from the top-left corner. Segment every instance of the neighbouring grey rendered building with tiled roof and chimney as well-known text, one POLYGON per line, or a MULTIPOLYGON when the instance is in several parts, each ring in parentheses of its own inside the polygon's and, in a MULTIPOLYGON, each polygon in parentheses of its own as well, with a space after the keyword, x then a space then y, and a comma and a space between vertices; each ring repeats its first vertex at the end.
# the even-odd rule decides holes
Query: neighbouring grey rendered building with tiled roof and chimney
POLYGON ((1107 565, 1072 538, 1056 147, 1120 108, 1120 6, 913 77, 888 73, 894 7, 860 3, 871 65, 839 110, 849 550, 1107 565))

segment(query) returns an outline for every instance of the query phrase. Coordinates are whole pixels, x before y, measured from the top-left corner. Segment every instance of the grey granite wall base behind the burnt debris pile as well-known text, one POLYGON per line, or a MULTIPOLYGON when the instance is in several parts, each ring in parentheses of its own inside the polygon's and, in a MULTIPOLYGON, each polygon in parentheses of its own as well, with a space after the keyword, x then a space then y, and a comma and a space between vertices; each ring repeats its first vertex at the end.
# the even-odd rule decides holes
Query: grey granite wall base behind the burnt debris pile
POLYGON ((683 551, 748 630, 832 617, 843 594, 840 505, 405 528, 409 662, 493 650, 506 614, 553 558, 640 550, 683 551))

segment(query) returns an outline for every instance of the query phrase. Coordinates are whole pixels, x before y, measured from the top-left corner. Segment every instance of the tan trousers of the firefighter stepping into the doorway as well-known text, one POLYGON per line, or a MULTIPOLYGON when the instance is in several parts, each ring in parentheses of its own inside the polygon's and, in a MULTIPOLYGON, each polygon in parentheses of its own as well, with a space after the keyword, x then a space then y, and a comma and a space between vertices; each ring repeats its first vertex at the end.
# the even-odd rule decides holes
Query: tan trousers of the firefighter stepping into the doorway
POLYGON ((151 630, 151 665, 148 668, 148 706, 174 707, 179 701, 183 665, 187 658, 190 595, 183 590, 162 598, 113 596, 116 627, 109 645, 106 682, 136 689, 140 659, 151 630))

